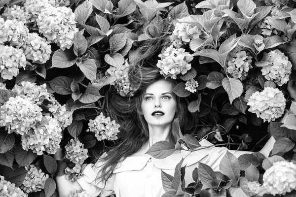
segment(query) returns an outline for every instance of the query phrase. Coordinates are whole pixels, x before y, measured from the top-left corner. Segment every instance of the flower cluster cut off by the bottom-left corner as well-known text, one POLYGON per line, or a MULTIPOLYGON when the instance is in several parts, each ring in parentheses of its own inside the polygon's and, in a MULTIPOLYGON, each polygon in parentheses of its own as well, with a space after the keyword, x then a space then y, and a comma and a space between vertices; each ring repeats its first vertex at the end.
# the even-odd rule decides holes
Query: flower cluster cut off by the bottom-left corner
POLYGON ((28 197, 20 188, 16 187, 14 183, 5 181, 3 176, 0 176, 0 197, 28 197))

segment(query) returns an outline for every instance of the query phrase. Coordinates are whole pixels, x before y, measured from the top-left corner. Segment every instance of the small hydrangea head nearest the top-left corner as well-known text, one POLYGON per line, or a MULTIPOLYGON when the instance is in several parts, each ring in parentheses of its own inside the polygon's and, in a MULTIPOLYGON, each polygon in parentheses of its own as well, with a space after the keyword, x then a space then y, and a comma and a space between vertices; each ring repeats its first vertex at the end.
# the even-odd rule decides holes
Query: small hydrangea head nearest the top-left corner
POLYGON ((11 7, 6 7, 2 14, 2 17, 4 17, 6 20, 15 19, 22 23, 27 22, 28 16, 29 13, 25 10, 25 7, 19 5, 12 5, 11 7))

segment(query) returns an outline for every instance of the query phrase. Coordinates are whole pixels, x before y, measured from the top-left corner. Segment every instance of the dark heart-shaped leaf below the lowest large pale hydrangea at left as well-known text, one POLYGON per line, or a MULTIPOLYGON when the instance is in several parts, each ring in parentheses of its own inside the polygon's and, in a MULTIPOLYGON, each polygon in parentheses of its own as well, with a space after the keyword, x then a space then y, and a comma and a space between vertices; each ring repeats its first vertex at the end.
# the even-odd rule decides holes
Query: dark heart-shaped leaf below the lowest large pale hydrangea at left
POLYGON ((18 144, 14 149, 15 153, 15 161, 19 164, 19 166, 26 166, 31 164, 36 158, 37 154, 33 153, 32 150, 24 150, 21 144, 18 144))

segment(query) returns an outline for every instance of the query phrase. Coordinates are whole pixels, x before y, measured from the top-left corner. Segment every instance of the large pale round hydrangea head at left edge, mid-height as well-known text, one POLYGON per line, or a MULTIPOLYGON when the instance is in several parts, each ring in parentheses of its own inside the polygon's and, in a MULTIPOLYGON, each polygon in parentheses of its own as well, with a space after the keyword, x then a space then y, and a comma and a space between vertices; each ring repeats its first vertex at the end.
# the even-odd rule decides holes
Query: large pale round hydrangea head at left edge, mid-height
POLYGON ((16 132, 23 135, 36 127, 42 119, 41 108, 30 99, 10 97, 0 106, 0 126, 8 133, 16 132))

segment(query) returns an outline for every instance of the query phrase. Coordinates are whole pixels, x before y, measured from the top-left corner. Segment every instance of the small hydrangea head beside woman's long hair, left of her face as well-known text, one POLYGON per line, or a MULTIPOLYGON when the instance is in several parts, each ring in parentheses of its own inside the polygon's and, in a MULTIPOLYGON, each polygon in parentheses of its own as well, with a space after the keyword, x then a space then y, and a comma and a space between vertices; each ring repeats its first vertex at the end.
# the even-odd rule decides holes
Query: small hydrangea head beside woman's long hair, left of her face
POLYGON ((105 117, 101 112, 95 120, 89 120, 88 127, 90 131, 95 133, 95 136, 99 141, 115 140, 117 139, 118 128, 120 125, 116 124, 115 121, 111 121, 110 117, 105 117))

